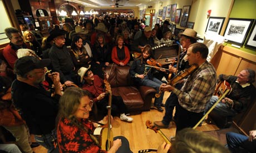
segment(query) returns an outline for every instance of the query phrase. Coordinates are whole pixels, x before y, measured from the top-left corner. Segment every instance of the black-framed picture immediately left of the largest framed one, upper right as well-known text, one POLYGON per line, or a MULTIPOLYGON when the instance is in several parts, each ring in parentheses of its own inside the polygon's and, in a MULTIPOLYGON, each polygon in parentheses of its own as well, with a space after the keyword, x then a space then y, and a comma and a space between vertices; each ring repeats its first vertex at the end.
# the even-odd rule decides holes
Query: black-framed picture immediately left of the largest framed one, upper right
POLYGON ((224 17, 210 17, 205 32, 220 34, 224 21, 224 17))

